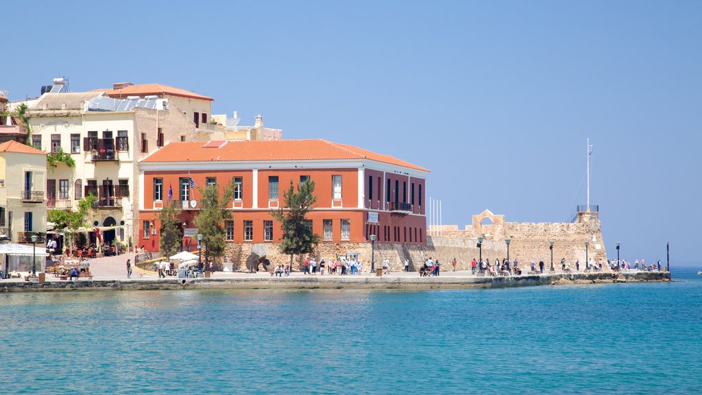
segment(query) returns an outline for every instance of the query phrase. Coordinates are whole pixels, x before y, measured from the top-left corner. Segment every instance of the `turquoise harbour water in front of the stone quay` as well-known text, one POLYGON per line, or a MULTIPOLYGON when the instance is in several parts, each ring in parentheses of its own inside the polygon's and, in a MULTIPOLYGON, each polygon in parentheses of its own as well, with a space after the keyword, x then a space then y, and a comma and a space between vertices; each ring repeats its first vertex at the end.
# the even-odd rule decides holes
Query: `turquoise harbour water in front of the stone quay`
POLYGON ((2 394, 701 394, 702 276, 0 294, 2 394))

